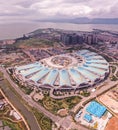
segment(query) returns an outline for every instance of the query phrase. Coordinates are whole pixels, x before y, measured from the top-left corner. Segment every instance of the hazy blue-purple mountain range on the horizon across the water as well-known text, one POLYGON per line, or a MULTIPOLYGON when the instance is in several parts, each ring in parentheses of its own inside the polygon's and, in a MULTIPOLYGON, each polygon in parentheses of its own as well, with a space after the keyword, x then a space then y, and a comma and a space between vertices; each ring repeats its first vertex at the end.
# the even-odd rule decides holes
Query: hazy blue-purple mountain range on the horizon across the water
POLYGON ((35 20, 36 22, 67 22, 67 23, 76 23, 76 24, 118 24, 118 18, 75 18, 75 19, 62 19, 62 18, 52 18, 52 19, 43 19, 35 20))

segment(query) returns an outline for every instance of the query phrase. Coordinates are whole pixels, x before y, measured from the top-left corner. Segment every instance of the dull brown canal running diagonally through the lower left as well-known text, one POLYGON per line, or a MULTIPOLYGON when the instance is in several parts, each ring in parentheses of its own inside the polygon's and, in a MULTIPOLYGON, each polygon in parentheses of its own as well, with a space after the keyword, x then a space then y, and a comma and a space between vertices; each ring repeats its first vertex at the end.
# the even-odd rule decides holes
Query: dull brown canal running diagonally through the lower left
POLYGON ((23 114, 26 121, 28 122, 31 130, 41 130, 37 121, 31 111, 29 111, 23 103, 21 103, 18 96, 14 94, 14 92, 5 85, 4 81, 0 81, 0 88, 4 91, 5 95, 8 97, 10 102, 23 114))

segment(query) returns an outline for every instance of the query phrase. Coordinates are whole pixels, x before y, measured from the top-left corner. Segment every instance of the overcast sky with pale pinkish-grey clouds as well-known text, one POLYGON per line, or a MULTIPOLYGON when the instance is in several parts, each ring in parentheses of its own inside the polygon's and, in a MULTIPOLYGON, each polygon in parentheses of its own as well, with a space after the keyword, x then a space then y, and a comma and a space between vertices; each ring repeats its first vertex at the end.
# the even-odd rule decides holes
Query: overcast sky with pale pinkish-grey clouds
POLYGON ((57 17, 118 18, 118 0, 0 0, 0 23, 57 17))

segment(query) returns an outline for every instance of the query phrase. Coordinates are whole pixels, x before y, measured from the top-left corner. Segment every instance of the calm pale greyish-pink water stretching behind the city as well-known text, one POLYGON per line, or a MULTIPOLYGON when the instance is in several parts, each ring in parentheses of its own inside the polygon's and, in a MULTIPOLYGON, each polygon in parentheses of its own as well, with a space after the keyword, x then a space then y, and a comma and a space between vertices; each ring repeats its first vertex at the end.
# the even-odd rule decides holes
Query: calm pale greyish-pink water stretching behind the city
POLYGON ((39 28, 57 28, 65 30, 92 31, 93 28, 118 32, 118 25, 110 24, 71 24, 71 23, 12 23, 0 24, 0 40, 22 36, 39 28))

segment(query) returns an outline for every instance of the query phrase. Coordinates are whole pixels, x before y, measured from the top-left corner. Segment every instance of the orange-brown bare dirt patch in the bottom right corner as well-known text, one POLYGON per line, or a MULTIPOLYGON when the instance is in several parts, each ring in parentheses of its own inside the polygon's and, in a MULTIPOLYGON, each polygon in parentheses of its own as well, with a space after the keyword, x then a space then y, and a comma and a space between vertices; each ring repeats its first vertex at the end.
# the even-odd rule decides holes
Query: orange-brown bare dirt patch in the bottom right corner
POLYGON ((118 130, 118 118, 112 117, 109 120, 105 130, 118 130))

